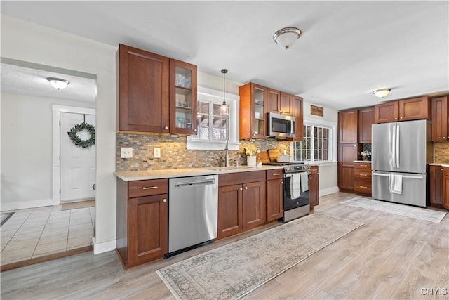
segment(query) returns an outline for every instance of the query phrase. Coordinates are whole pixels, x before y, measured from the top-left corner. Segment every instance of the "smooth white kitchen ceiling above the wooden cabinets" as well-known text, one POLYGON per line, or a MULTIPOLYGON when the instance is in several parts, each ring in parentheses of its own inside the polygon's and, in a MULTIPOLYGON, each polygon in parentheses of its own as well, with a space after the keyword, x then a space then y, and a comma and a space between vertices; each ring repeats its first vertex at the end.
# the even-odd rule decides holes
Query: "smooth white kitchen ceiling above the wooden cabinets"
MULTIPOLYGON (((449 91, 449 1, 1 1, 1 13, 337 110, 449 91), (272 35, 299 27, 288 50, 272 35), (392 89, 384 99, 375 89, 392 89)), ((3 89, 3 84, 2 84, 3 89)))

